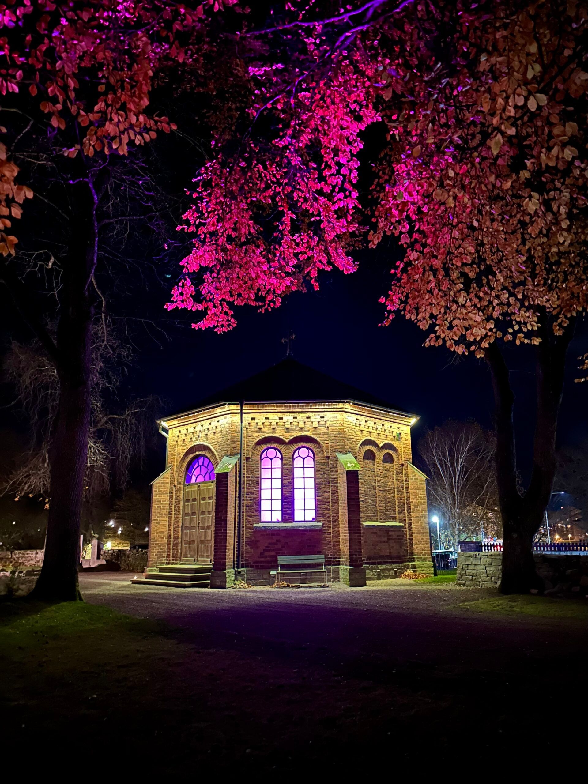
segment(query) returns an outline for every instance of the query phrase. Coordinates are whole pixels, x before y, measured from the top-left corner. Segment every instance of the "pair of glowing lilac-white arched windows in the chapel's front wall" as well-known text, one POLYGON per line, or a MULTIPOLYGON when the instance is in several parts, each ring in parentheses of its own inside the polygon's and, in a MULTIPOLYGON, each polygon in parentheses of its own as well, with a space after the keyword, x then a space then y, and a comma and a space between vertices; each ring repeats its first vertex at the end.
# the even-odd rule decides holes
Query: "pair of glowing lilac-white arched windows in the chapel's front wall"
MULTIPOLYGON (((273 446, 260 455, 260 521, 281 522, 282 519, 282 464, 284 458, 273 446)), ((297 448, 292 455, 294 521, 316 520, 317 501, 314 481, 314 452, 307 446, 297 448)))

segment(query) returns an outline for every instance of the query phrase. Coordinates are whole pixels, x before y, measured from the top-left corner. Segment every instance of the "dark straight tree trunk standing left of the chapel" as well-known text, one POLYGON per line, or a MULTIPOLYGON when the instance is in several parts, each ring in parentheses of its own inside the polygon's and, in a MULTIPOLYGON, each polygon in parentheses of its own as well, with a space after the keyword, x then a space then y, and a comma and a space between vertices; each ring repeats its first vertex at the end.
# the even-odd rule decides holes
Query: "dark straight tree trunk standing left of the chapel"
POLYGON ((96 194, 87 179, 72 186, 71 243, 64 263, 57 327, 60 399, 49 449, 49 519, 45 557, 32 596, 41 601, 76 601, 80 522, 88 461, 93 296, 96 267, 96 194))

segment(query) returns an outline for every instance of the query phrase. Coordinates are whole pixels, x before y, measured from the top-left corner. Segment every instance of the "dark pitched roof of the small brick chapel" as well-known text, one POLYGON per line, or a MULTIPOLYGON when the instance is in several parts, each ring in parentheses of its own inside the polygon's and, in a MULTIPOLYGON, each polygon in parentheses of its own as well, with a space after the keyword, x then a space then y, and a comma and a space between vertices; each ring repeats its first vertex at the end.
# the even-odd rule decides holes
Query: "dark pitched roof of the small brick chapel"
POLYGON ((237 403, 238 401, 317 401, 317 400, 354 400, 377 405, 379 408, 403 411, 368 392, 351 387, 320 370, 310 368, 301 362, 287 357, 276 365, 249 376, 248 379, 233 384, 226 389, 209 395, 187 409, 204 408, 215 403, 237 403))

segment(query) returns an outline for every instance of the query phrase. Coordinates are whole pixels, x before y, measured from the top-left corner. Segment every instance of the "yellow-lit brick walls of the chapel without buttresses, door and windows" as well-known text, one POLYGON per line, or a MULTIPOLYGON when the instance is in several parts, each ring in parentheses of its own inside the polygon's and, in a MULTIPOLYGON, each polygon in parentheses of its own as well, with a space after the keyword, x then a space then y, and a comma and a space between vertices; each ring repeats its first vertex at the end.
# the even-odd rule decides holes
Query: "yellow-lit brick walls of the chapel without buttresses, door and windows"
MULTIPOLYGON (((183 482, 187 467, 197 454, 209 456, 215 466, 223 456, 237 454, 239 415, 238 405, 223 404, 201 412, 189 412, 167 423, 169 470, 153 485, 150 566, 180 560, 183 482)), ((375 563, 374 559, 381 559, 382 564, 396 563, 407 557, 430 560, 424 478, 422 475, 413 477, 408 468, 412 456, 409 423, 408 416, 350 402, 245 405, 241 567, 273 568, 278 554, 324 554, 328 565, 350 564, 347 476, 344 470, 341 473, 336 452, 351 452, 362 466, 356 494, 359 523, 402 524, 385 532, 366 532, 360 526, 355 559, 358 560, 359 546, 361 557, 367 557, 370 563, 375 563), (258 527, 260 453, 269 445, 280 449, 283 455, 282 519, 285 522, 292 521, 293 517, 292 452, 300 445, 313 449, 317 522, 321 528, 270 530, 258 527), (364 465, 366 448, 372 448, 376 454, 376 460, 367 470, 364 465), (384 462, 385 455, 393 462, 384 462)), ((238 470, 237 465, 234 472, 238 470)), ((229 492, 228 488, 226 490, 229 492)), ((234 492, 234 484, 230 492, 234 492)), ((230 506, 231 502, 227 503, 230 506)), ((227 533, 227 568, 232 565, 233 557, 230 538, 227 533)))

